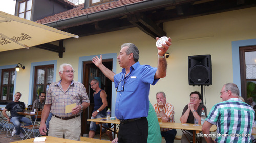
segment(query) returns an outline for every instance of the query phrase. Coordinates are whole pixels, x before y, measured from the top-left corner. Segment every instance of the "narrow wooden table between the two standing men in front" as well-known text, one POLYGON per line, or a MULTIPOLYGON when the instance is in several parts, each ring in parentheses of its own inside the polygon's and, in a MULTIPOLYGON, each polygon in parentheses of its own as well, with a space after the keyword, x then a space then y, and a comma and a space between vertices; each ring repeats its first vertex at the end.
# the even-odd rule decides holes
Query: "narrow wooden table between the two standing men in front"
POLYGON ((120 121, 119 120, 102 120, 102 119, 106 119, 106 118, 95 118, 95 119, 87 119, 87 121, 91 121, 91 122, 95 122, 96 124, 100 125, 100 136, 99 136, 99 139, 101 139, 101 131, 102 131, 102 124, 103 123, 111 123, 113 125, 111 125, 111 129, 113 128, 113 130, 109 129, 109 128, 106 128, 106 130, 108 131, 111 131, 113 132, 113 139, 116 137, 116 125, 117 124, 120 124, 120 121))

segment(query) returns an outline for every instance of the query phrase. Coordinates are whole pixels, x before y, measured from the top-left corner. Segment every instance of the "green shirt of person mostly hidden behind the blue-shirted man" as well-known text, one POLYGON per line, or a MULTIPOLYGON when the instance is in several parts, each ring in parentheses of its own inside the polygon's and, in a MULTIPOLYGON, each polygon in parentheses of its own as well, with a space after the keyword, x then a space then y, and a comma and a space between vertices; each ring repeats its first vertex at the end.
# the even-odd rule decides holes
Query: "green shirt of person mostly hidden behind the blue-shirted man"
POLYGON ((148 122, 147 143, 159 143, 162 142, 160 126, 153 106, 151 103, 149 105, 148 116, 146 118, 148 122))

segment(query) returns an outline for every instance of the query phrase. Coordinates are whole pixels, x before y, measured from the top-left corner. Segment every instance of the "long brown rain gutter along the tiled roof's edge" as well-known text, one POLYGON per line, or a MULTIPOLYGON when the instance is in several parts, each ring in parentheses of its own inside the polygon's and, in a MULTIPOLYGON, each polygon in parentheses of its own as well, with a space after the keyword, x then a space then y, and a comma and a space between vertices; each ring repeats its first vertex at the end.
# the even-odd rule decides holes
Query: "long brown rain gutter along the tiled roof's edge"
POLYGON ((96 20, 96 19, 100 19, 100 18, 112 17, 112 16, 116 16, 116 15, 120 15, 120 14, 127 14, 127 13, 131 13, 134 11, 142 10, 142 9, 148 9, 148 8, 158 7, 158 6, 168 5, 168 4, 175 4, 175 0, 142 1, 142 2, 133 3, 133 4, 129 4, 129 5, 115 7, 115 8, 109 9, 109 10, 90 13, 87 15, 81 15, 81 16, 77 16, 77 17, 73 17, 73 18, 69 18, 69 19, 65 19, 65 20, 59 20, 56 22, 47 23, 45 25, 54 27, 54 28, 59 28, 59 27, 63 27, 63 26, 71 25, 71 24, 80 23, 80 22, 90 22, 92 20, 96 20))

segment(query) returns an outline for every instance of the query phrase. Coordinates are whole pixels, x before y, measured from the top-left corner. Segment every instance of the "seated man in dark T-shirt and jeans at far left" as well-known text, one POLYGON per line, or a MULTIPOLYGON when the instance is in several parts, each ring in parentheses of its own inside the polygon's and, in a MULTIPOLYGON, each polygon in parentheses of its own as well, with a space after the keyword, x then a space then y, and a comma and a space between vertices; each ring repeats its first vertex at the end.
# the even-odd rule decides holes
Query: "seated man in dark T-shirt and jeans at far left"
POLYGON ((19 99, 22 96, 20 92, 15 93, 14 101, 8 103, 5 109, 2 111, 3 115, 7 118, 7 121, 10 121, 14 124, 14 129, 12 131, 12 136, 18 135, 20 138, 24 138, 24 134, 21 132, 21 122, 25 123, 25 126, 32 125, 29 118, 19 115, 17 112, 25 111, 25 104, 20 102, 19 99), (11 112, 11 117, 6 114, 6 111, 11 112))

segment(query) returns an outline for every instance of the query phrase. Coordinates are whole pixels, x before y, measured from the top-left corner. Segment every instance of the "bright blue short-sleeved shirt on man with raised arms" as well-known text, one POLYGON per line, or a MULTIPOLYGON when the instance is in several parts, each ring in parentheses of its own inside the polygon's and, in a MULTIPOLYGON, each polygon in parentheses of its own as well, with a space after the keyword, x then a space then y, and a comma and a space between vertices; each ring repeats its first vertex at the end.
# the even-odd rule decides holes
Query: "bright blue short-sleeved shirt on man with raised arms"
POLYGON ((150 85, 155 85, 159 80, 154 79, 156 71, 157 68, 140 65, 139 62, 136 62, 130 67, 130 73, 127 73, 126 76, 125 69, 114 76, 115 87, 117 88, 115 105, 117 119, 147 117, 150 85))

